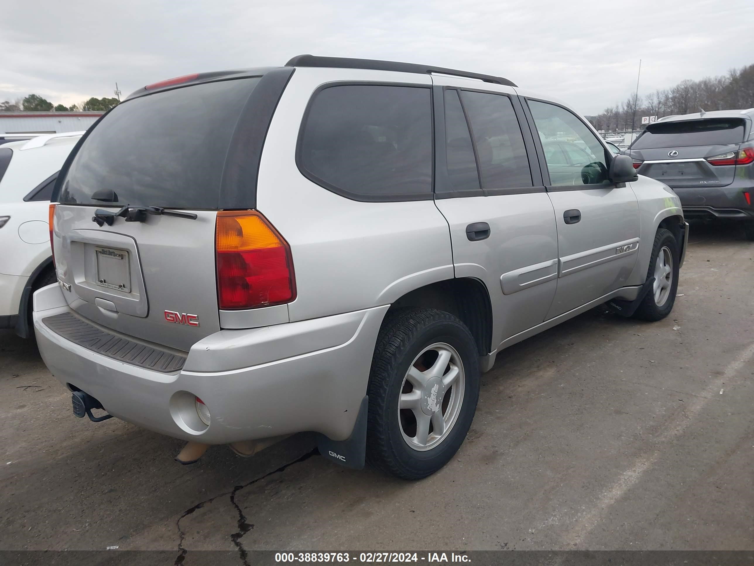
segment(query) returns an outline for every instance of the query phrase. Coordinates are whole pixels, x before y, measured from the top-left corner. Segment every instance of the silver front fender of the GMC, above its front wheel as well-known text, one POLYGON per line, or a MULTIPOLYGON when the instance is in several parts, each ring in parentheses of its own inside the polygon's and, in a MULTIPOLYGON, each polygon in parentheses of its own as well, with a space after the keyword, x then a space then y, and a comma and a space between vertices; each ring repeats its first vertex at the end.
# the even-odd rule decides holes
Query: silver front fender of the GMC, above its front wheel
POLYGON ((639 175, 639 180, 629 184, 639 202, 641 244, 636 266, 626 281, 626 285, 641 285, 647 276, 657 226, 660 226, 662 220, 667 217, 682 217, 683 211, 678 195, 666 184, 643 175, 639 175))

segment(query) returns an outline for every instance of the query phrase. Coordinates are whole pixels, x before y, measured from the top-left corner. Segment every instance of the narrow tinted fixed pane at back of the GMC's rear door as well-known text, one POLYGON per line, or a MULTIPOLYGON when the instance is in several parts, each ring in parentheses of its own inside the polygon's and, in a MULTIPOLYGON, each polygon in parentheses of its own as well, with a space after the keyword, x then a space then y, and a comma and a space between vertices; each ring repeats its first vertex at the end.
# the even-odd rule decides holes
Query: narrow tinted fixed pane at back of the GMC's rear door
POLYGON ((477 160, 458 91, 445 91, 445 154, 452 189, 479 190, 477 160))

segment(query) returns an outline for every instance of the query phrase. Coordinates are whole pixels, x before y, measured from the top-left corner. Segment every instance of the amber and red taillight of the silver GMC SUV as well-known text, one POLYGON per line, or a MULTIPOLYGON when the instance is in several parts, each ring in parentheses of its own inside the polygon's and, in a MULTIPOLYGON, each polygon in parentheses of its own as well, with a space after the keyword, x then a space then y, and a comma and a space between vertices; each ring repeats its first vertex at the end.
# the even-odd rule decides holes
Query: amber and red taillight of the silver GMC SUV
POLYGON ((252 309, 296 298, 290 246, 259 212, 218 212, 215 251, 220 309, 252 309))

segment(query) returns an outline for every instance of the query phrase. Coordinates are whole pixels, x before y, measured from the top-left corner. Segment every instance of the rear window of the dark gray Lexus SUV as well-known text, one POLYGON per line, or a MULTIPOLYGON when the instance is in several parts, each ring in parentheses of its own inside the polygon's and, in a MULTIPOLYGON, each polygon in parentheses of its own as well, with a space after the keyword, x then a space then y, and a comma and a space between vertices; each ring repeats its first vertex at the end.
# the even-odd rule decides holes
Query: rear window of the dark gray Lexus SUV
POLYGON ((741 142, 743 120, 739 118, 690 120, 650 125, 631 149, 724 146, 741 142))

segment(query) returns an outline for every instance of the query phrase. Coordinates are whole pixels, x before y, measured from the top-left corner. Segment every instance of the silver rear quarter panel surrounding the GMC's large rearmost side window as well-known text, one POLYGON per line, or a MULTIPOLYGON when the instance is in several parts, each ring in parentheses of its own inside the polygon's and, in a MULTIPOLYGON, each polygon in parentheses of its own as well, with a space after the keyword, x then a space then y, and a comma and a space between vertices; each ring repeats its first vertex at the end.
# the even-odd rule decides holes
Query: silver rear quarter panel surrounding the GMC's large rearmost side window
POLYGON ((280 99, 262 152, 257 208, 290 244, 297 297, 290 321, 394 302, 453 277, 450 235, 434 201, 361 202, 304 177, 296 141, 314 90, 326 82, 431 85, 427 75, 298 68, 280 99))

